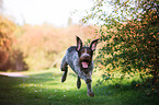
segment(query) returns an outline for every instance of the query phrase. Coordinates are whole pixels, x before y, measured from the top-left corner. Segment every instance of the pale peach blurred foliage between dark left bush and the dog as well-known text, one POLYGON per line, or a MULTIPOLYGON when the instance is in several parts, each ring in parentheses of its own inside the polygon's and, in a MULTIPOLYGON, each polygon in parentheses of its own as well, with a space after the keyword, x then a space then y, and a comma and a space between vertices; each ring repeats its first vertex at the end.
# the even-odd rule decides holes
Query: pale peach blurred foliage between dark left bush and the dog
POLYGON ((58 67, 66 49, 76 45, 76 35, 83 39, 91 38, 94 30, 95 26, 70 25, 57 28, 48 24, 25 24, 16 28, 13 48, 22 54, 21 62, 24 61, 30 70, 58 67))

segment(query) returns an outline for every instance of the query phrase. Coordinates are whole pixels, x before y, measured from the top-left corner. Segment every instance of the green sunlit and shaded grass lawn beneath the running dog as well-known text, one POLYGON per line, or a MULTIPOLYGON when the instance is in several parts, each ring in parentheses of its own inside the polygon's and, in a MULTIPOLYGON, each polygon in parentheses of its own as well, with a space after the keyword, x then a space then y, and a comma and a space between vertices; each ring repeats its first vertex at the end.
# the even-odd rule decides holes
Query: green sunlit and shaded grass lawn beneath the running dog
POLYGON ((58 69, 22 72, 29 78, 9 78, 0 75, 0 105, 159 105, 158 95, 145 95, 145 92, 132 85, 133 80, 124 80, 117 85, 117 79, 107 84, 94 86, 98 74, 93 75, 94 97, 87 95, 82 81, 81 89, 76 88, 76 74, 69 72, 65 83, 60 82, 63 72, 58 69))

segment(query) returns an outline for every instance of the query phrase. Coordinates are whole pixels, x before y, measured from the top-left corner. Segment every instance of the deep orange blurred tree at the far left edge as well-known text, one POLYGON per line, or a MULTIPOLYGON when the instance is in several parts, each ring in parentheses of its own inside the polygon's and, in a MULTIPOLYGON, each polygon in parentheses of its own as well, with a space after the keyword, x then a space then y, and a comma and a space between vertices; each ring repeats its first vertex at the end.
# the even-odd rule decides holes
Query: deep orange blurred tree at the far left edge
POLYGON ((12 21, 0 15, 0 70, 8 68, 7 63, 12 52, 11 47, 14 39, 14 28, 15 24, 12 21))

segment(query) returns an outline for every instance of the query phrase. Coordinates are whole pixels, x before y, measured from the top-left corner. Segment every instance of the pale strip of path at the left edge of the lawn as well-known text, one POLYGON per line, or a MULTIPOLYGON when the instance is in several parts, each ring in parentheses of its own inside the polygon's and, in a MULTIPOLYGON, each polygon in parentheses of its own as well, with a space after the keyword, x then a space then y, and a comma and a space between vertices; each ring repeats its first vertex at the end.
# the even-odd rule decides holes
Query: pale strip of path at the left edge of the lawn
POLYGON ((0 72, 1 75, 8 75, 8 77, 20 77, 20 78, 29 78, 29 75, 23 75, 20 72, 0 72))

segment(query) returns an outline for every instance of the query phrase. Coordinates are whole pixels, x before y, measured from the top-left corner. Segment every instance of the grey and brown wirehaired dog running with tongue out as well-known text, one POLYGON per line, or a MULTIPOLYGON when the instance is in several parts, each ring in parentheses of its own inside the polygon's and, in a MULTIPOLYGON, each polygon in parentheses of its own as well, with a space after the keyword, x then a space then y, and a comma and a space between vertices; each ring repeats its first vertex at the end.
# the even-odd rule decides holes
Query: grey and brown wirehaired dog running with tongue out
POLYGON ((93 71, 93 51, 95 50, 99 39, 94 39, 90 47, 83 47, 82 40, 77 36, 77 46, 71 46, 67 49, 65 57, 63 58, 60 69, 64 71, 61 82, 66 81, 68 65, 70 68, 78 74, 77 88, 80 89, 81 81, 83 79, 87 83, 88 95, 94 96, 94 93, 91 89, 91 75, 93 71))

